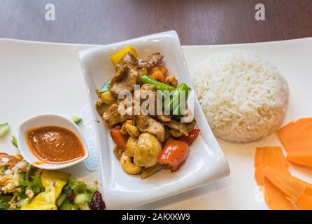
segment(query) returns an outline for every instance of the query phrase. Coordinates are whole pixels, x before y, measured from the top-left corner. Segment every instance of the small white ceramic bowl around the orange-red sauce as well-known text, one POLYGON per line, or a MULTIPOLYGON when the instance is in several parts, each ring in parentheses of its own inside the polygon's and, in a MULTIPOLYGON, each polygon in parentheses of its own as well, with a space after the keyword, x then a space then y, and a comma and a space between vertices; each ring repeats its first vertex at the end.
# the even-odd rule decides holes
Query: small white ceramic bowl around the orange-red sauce
POLYGON ((29 120, 26 120, 24 123, 22 123, 22 125, 20 125, 20 127, 18 128, 17 144, 20 154, 22 155, 24 160, 26 160, 29 164, 33 165, 34 167, 38 167, 41 169, 63 169, 66 167, 71 167, 73 165, 78 164, 79 162, 82 162, 88 156, 87 144, 85 143, 85 139, 83 139, 83 134, 81 134, 78 126, 71 120, 54 114, 39 115, 34 118, 30 118, 29 120), (31 129, 44 126, 64 127, 67 130, 70 130, 71 132, 76 134, 78 139, 80 139, 81 144, 83 144, 85 156, 83 156, 83 158, 80 158, 78 160, 73 160, 71 162, 64 162, 59 164, 47 163, 37 158, 36 155, 34 155, 34 153, 31 152, 31 149, 27 145, 26 134, 31 129))

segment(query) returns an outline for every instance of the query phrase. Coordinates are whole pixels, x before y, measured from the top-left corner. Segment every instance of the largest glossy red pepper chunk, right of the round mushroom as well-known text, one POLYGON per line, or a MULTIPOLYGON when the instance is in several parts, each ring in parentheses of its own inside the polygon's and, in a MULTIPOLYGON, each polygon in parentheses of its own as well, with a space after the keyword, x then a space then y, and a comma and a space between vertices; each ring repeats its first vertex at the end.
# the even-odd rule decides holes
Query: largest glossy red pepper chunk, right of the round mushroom
POLYGON ((174 172, 185 161, 189 148, 184 141, 168 140, 159 155, 159 165, 166 165, 174 172))

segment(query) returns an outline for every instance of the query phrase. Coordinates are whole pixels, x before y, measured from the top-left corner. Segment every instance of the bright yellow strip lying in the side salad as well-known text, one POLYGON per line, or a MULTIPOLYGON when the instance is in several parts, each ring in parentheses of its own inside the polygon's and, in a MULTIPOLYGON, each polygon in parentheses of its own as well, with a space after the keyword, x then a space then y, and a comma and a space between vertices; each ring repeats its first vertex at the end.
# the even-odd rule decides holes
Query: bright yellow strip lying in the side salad
POLYGON ((21 210, 57 210, 55 201, 61 195, 69 174, 55 170, 45 170, 41 174, 41 183, 45 191, 36 195, 29 204, 23 204, 21 210))

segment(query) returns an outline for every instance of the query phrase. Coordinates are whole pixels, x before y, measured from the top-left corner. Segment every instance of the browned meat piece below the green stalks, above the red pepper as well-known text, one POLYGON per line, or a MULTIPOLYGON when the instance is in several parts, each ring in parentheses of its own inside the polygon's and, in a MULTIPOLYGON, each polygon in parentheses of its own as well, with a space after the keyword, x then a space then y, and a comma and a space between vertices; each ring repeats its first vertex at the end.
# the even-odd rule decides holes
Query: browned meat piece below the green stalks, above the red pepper
POLYGON ((173 137, 188 136, 188 132, 195 127, 196 120, 192 120, 191 123, 180 123, 178 120, 172 120, 169 123, 163 123, 163 125, 171 128, 170 134, 172 134, 173 137))

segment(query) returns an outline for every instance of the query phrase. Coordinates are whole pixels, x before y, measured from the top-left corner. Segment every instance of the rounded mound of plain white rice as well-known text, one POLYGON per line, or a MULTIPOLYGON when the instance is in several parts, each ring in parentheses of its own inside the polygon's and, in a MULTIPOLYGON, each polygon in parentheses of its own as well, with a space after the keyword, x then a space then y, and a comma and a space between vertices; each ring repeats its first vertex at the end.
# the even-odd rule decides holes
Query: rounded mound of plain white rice
POLYGON ((192 84, 213 133, 225 141, 248 143, 275 132, 288 107, 285 78, 246 50, 211 57, 192 84))

